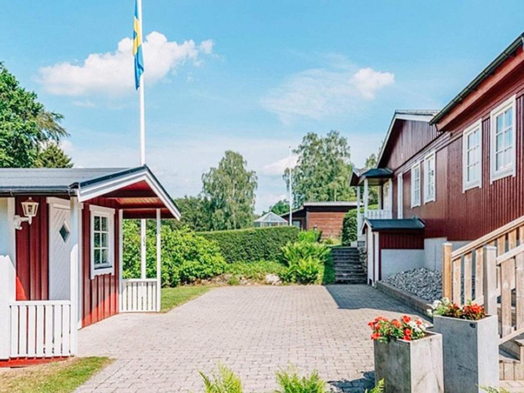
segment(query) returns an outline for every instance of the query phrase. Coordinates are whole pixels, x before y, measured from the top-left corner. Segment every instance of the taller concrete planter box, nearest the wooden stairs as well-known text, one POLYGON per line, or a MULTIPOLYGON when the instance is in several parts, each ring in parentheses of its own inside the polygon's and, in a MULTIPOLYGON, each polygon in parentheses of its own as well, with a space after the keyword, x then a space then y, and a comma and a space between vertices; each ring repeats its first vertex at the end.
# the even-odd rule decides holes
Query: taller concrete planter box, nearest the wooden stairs
POLYGON ((467 321, 434 316, 433 331, 444 344, 444 388, 446 393, 478 393, 478 386, 498 386, 497 316, 467 321))

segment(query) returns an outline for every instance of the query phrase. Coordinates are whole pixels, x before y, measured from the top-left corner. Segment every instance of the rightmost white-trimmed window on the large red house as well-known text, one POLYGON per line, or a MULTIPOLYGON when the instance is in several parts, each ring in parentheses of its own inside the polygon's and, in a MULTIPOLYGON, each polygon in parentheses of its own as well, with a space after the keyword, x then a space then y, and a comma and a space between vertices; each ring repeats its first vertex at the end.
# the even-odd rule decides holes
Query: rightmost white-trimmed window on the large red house
POLYGON ((515 96, 496 107, 490 119, 490 180, 493 182, 516 173, 515 96))

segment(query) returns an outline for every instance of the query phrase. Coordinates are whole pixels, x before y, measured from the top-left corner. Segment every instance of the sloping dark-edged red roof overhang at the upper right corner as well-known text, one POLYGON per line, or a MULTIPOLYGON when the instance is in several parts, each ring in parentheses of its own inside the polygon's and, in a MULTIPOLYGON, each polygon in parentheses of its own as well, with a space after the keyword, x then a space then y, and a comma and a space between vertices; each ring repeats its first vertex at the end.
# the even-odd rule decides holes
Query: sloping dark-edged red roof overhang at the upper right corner
POLYGON ((450 123, 452 117, 463 112, 456 111, 458 106, 462 105, 464 110, 470 107, 478 97, 493 88, 496 83, 500 82, 502 78, 509 75, 510 72, 524 62, 523 46, 524 33, 520 34, 511 42, 510 45, 500 53, 495 60, 490 62, 453 100, 444 106, 439 113, 436 113, 431 119, 430 124, 439 125, 439 130, 444 130, 444 126, 450 123), (501 67, 503 64, 504 67, 501 67), (503 68, 504 70, 502 70, 503 68), (504 75, 497 77, 496 72, 504 75))

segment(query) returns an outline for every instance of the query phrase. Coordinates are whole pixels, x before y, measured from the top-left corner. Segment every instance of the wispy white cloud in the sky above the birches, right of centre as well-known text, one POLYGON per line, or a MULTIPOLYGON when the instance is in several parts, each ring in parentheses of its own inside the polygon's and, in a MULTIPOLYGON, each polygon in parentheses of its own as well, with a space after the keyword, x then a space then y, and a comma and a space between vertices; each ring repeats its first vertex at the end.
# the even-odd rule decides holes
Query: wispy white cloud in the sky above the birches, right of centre
POLYGON ((291 75, 261 100, 261 105, 284 124, 305 117, 321 119, 373 100, 376 93, 395 82, 395 75, 372 68, 356 69, 340 61, 336 67, 313 68, 291 75))

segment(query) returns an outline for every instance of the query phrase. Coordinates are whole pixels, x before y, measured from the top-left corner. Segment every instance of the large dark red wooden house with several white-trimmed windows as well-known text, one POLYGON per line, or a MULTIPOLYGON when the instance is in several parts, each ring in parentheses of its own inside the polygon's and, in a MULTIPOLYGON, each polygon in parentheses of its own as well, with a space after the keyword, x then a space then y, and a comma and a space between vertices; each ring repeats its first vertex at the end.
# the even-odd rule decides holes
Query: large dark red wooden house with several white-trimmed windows
POLYGON ((506 236, 499 253, 524 240, 523 42, 512 42, 442 110, 395 112, 377 168, 353 174, 365 206, 370 185, 381 194, 380 209, 366 208, 359 227, 370 283, 441 269, 444 243, 462 255, 476 239, 506 236))

